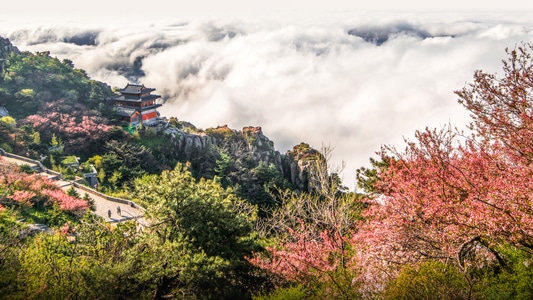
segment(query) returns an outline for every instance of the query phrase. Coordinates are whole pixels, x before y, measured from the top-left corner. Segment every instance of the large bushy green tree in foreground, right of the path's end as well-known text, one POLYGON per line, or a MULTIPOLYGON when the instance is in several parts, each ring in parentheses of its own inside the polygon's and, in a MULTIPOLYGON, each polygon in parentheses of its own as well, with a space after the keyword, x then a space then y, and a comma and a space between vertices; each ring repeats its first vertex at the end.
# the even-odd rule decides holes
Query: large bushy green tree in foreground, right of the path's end
POLYGON ((137 274, 138 280, 159 278, 150 283, 157 285, 158 295, 182 287, 178 291, 191 297, 248 297, 244 282, 260 282, 245 260, 261 250, 253 233, 253 207, 216 179, 196 182, 181 164, 160 176, 136 180, 135 187, 148 204, 147 214, 158 224, 142 247, 144 254, 137 254, 145 259, 142 264, 152 266, 149 273, 137 274))

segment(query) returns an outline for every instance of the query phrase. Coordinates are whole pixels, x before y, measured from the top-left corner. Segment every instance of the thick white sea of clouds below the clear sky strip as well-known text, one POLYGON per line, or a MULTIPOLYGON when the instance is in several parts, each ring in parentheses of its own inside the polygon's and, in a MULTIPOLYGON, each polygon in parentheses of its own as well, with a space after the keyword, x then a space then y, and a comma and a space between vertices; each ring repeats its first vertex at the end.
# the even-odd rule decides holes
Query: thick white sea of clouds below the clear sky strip
POLYGON ((0 35, 23 50, 69 58, 114 86, 136 77, 167 98, 163 115, 198 127, 261 126, 282 152, 300 142, 330 145, 353 187, 355 170, 382 144, 402 145, 425 126, 464 126, 468 114, 453 91, 476 69, 501 70, 504 49, 531 40, 527 20, 360 14, 317 22, 11 26, 0 35))

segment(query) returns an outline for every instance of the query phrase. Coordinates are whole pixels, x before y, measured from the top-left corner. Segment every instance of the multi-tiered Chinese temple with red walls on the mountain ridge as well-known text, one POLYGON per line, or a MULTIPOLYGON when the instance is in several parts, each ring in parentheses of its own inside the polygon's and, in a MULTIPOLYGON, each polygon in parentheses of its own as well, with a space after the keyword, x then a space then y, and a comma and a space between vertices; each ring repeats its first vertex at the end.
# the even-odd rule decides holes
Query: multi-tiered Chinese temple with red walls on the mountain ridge
POLYGON ((122 120, 136 125, 139 123, 154 123, 159 116, 156 100, 160 95, 153 95, 153 88, 147 88, 144 84, 127 84, 125 88, 118 90, 120 96, 110 98, 122 120))

